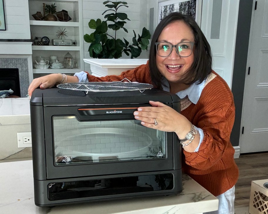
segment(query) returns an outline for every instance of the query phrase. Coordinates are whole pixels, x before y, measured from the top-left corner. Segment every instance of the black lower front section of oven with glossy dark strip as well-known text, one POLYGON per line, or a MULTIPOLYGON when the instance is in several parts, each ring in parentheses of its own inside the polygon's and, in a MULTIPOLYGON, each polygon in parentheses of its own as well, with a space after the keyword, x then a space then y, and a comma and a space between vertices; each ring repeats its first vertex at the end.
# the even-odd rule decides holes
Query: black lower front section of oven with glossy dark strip
POLYGON ((181 170, 113 176, 34 180, 37 206, 172 195, 182 191, 181 170))

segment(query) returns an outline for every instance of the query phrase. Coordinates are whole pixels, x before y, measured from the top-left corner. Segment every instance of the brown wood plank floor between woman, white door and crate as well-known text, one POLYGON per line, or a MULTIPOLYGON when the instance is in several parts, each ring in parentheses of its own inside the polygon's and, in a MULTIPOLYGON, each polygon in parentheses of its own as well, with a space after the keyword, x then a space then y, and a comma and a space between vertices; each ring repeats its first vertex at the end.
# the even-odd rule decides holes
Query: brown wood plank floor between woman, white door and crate
POLYGON ((249 206, 251 181, 268 179, 268 152, 241 154, 235 162, 239 169, 235 207, 249 206))

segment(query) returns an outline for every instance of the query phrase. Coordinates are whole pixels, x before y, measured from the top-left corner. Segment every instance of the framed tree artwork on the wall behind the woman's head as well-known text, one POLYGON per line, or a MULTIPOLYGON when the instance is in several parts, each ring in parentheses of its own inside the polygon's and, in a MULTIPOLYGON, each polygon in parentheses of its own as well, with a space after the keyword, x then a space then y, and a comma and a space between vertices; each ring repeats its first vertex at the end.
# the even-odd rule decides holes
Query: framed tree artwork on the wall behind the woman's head
POLYGON ((192 16, 197 24, 201 26, 202 0, 159 0, 158 1, 158 23, 173 12, 180 12, 192 16))

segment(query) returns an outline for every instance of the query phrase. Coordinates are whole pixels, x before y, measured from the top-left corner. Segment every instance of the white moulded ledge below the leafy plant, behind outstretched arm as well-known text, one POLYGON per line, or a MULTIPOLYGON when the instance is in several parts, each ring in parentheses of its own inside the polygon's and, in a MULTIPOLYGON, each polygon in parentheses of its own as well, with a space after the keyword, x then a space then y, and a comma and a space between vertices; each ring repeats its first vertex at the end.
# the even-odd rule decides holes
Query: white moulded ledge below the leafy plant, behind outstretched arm
POLYGON ((104 77, 120 75, 121 72, 146 64, 148 59, 84 59, 90 64, 92 75, 104 77))

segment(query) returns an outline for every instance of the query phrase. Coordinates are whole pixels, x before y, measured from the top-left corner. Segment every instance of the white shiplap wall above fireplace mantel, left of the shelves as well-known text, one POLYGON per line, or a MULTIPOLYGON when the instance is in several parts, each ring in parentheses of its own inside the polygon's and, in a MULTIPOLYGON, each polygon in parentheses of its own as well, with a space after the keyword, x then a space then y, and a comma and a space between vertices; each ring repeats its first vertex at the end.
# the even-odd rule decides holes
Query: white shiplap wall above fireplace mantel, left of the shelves
POLYGON ((0 39, 30 39, 28 0, 4 0, 6 30, 0 39))

